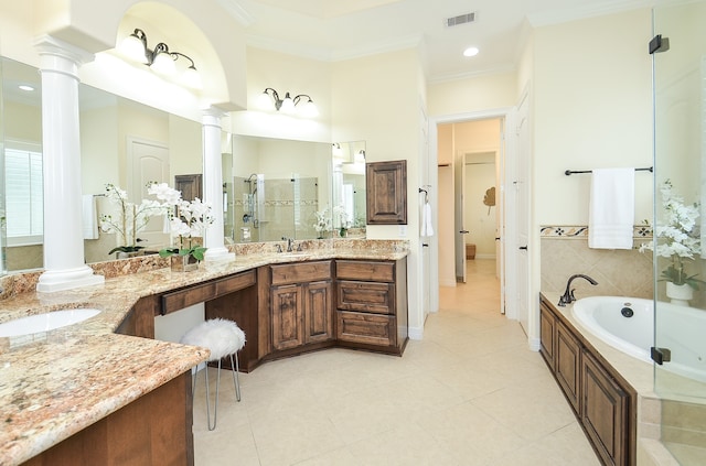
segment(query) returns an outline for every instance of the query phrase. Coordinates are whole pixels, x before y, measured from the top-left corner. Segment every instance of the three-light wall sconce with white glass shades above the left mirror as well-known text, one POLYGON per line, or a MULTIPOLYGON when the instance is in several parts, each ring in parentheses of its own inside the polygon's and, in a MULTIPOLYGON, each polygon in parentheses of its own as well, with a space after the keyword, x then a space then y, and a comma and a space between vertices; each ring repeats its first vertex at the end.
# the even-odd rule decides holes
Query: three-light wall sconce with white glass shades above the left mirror
POLYGON ((128 35, 120 43, 120 52, 128 58, 148 65, 154 73, 162 76, 173 76, 176 74, 175 62, 183 57, 190 62, 190 65, 181 75, 181 82, 193 89, 201 89, 201 76, 196 71, 194 61, 181 52, 169 50, 169 45, 160 42, 150 50, 147 45, 147 34, 141 29, 136 29, 132 34, 128 35))

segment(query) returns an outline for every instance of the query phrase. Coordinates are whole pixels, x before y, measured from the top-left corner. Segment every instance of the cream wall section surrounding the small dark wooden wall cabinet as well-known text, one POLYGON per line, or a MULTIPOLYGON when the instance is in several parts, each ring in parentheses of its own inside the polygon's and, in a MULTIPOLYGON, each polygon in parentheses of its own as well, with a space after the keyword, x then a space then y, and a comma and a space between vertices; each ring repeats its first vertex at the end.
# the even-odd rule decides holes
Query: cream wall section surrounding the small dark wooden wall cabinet
POLYGON ((399 226, 368 226, 371 239, 409 239, 407 258, 409 333, 424 330, 419 264, 418 192, 420 172, 421 107, 425 96, 416 51, 405 50, 334 63, 332 83, 332 134, 334 141, 365 141, 367 162, 407 160, 406 234, 399 226))

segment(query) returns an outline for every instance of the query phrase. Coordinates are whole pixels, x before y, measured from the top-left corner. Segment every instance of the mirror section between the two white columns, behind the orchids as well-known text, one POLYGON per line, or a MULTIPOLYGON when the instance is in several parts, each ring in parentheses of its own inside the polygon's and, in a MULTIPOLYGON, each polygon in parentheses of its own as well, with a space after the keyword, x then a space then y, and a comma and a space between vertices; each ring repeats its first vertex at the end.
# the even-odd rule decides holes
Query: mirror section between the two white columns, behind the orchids
MULTIPOLYGON (((120 215, 116 203, 105 196, 108 183, 126 191, 127 201, 139 205, 142 199, 152 198, 147 193, 150 182, 184 188, 184 180, 200 180, 203 155, 199 122, 83 84, 79 99, 84 205, 95 203, 93 208, 87 207, 94 212, 87 218, 120 215)), ((189 196, 202 198, 202 193, 192 192, 201 185, 192 184, 188 184, 189 196)), ((108 252, 114 248, 136 246, 125 245, 122 238, 100 228, 97 234, 96 228, 93 234, 87 231, 86 262, 110 260, 108 252)), ((136 238, 138 253, 153 253, 170 246, 164 217, 150 217, 136 238)))

